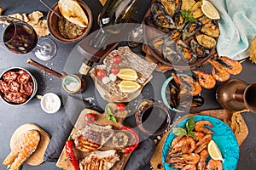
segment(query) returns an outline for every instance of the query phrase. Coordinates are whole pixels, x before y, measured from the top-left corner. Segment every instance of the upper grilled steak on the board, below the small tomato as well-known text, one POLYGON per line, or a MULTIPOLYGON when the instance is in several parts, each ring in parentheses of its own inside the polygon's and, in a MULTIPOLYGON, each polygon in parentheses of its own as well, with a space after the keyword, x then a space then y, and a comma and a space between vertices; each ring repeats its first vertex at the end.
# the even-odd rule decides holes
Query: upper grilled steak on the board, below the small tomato
POLYGON ((110 125, 100 126, 96 124, 87 124, 77 133, 72 135, 77 149, 90 152, 102 148, 113 136, 113 129, 110 125))

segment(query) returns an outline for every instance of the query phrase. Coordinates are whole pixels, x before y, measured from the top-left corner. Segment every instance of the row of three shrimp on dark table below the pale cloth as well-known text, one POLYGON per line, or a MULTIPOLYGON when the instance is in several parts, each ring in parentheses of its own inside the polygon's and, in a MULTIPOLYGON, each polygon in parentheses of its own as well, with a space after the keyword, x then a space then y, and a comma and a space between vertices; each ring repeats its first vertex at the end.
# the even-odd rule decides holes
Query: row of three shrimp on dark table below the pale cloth
POLYGON ((242 71, 240 62, 230 59, 229 57, 218 57, 225 65, 220 64, 217 60, 209 59, 208 62, 212 65, 212 74, 204 71, 193 71, 198 77, 198 82, 203 88, 214 88, 216 81, 225 82, 229 80, 230 75, 238 75, 242 71))

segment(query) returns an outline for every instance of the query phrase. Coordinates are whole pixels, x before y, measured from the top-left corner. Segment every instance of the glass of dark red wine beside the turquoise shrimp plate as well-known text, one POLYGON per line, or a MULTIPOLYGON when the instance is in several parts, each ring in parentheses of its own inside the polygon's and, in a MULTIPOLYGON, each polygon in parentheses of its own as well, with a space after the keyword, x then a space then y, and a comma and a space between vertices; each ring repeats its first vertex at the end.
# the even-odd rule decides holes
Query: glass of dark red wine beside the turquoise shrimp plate
POLYGON ((143 99, 135 112, 137 127, 149 135, 158 136, 171 123, 171 112, 160 100, 143 99))

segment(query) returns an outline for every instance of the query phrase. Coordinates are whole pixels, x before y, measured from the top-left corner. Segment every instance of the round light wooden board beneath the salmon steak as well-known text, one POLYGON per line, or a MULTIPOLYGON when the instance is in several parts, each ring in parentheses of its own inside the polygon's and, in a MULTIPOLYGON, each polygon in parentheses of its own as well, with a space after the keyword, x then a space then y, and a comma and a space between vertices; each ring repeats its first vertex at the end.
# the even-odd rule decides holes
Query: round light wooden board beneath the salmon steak
POLYGON ((32 156, 27 158, 25 163, 32 166, 37 166, 44 162, 44 152, 50 140, 49 134, 46 133, 41 127, 38 127, 38 125, 26 123, 18 127, 15 130, 15 133, 13 134, 12 138, 10 139, 10 148, 11 150, 14 149, 16 141, 22 133, 26 133, 28 130, 32 129, 37 130, 38 133, 40 133, 40 142, 38 144, 37 150, 32 154, 32 156))

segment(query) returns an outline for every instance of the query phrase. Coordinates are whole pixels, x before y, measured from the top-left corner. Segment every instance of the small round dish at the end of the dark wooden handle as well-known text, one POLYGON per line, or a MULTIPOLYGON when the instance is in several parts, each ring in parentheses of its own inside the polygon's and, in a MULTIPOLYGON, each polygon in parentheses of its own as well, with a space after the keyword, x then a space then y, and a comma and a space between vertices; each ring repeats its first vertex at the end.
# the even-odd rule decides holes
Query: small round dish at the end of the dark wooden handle
POLYGON ((77 94, 81 86, 82 82, 76 75, 68 75, 62 81, 62 87, 68 94, 77 94))

